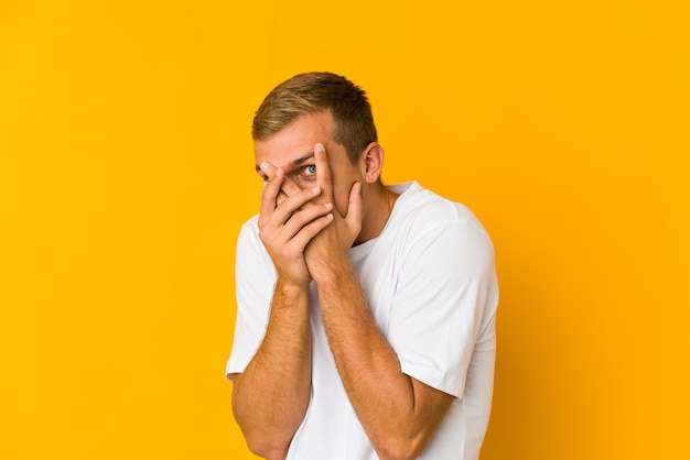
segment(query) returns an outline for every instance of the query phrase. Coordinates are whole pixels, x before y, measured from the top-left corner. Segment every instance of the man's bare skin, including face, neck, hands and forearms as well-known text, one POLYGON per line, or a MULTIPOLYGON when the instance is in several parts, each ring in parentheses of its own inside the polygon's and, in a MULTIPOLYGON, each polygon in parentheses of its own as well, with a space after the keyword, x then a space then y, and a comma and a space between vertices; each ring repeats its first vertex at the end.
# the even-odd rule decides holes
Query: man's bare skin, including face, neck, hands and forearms
POLYGON ((255 453, 285 458, 309 405, 314 281, 341 379, 376 452, 412 459, 453 397, 403 374, 371 316, 347 254, 381 232, 397 196, 379 180, 380 145, 369 144, 353 164, 332 130, 324 111, 255 142, 257 171, 267 179, 259 236, 278 282, 266 338, 234 376, 233 409, 255 453))

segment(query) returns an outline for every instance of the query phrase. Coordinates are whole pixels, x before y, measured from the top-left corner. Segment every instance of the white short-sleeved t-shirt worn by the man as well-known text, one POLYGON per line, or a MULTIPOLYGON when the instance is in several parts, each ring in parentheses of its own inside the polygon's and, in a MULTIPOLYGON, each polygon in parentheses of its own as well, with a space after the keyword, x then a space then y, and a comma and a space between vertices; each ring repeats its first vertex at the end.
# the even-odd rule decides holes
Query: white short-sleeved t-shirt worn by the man
MULTIPOLYGON (((490 412, 498 286, 488 234, 463 205, 416 182, 401 194, 381 233, 351 249, 376 322, 402 372, 455 396, 419 459, 476 460, 490 412)), ((237 245, 237 322, 226 374, 241 373, 261 344, 276 270, 258 217, 237 245)), ((376 460, 339 380, 315 285, 310 287, 312 393, 289 460, 376 460)), ((269 402, 270 403, 270 402, 269 402)))

